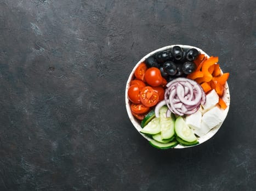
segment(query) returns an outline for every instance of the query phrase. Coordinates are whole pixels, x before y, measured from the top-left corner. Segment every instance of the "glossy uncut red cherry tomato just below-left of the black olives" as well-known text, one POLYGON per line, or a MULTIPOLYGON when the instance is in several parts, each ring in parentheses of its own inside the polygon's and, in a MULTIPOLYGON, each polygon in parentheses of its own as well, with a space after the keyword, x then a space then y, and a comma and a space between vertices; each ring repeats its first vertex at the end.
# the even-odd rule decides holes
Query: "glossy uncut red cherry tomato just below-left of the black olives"
POLYGON ((163 82, 160 69, 155 67, 147 69, 145 72, 145 81, 149 83, 150 86, 160 86, 163 82))

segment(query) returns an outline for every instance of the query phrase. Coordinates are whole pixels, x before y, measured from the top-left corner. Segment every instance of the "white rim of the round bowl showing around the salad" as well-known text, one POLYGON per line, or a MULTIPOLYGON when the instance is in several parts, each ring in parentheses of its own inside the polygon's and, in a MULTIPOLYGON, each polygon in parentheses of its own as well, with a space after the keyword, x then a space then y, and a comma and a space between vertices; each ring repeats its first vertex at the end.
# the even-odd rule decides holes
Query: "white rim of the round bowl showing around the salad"
MULTIPOLYGON (((150 53, 148 53, 146 56, 144 56, 143 58, 140 59, 140 61, 135 65, 135 67, 133 68, 132 72, 130 73, 129 75, 129 78, 127 80, 127 83, 126 83, 126 109, 127 109, 127 113, 128 113, 128 116, 130 118, 130 121, 133 123, 133 126, 136 128, 136 130, 138 130, 138 132, 140 133, 140 130, 142 129, 141 126, 140 126, 140 121, 137 120, 133 115, 132 115, 132 112, 130 110, 130 101, 128 99, 128 88, 130 87, 130 81, 134 79, 134 71, 135 69, 138 67, 138 65, 141 63, 141 62, 144 62, 146 58, 152 56, 154 53, 158 52, 158 51, 164 51, 164 50, 167 50, 167 49, 171 49, 173 46, 177 46, 177 45, 170 45, 170 46, 165 46, 165 47, 162 47, 161 49, 157 49, 157 50, 154 50, 150 53)), ((209 55, 207 55, 206 52, 204 52, 203 50, 201 49, 198 49, 198 47, 194 47, 194 46, 189 46, 189 45, 178 45, 180 47, 183 47, 184 49, 190 49, 190 48, 195 48, 197 49, 200 53, 203 53, 204 55, 206 55, 207 57, 209 57, 209 55)), ((220 64, 220 68, 221 68, 221 64, 220 64)), ((229 105, 230 105, 230 92, 229 92, 229 86, 226 82, 225 84, 225 87, 224 87, 224 92, 223 92, 223 100, 224 102, 226 103, 227 105, 227 108, 225 109, 225 111, 223 112, 223 118, 225 120, 226 116, 227 116, 227 112, 229 111, 229 105)), ((224 122, 224 121, 223 121, 224 122)), ((206 142, 207 140, 211 139, 213 137, 213 135, 215 135, 218 130, 220 129, 221 125, 223 124, 220 123, 219 126, 217 127, 214 127, 213 129, 211 129, 206 135, 198 138, 198 142, 199 144, 197 145, 200 145, 202 144, 203 142, 206 142)), ((143 136, 145 139, 147 139, 148 141, 151 141, 152 139, 150 138, 150 136, 147 136, 143 133, 140 133, 141 136, 143 136)), ((197 146, 195 145, 195 146, 197 146)), ((182 146, 182 145, 177 145, 173 148, 187 148, 187 147, 192 147, 192 146, 182 146)))

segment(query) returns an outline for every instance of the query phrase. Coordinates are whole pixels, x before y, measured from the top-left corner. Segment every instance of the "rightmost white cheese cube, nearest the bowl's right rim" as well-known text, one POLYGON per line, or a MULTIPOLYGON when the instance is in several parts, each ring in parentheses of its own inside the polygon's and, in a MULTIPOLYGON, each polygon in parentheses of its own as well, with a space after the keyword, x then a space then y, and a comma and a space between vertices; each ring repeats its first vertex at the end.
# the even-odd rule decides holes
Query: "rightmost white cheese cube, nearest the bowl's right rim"
POLYGON ((221 110, 218 106, 207 111, 203 117, 202 122, 204 122, 210 129, 214 128, 221 122, 223 122, 224 110, 221 110))

